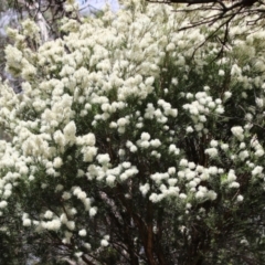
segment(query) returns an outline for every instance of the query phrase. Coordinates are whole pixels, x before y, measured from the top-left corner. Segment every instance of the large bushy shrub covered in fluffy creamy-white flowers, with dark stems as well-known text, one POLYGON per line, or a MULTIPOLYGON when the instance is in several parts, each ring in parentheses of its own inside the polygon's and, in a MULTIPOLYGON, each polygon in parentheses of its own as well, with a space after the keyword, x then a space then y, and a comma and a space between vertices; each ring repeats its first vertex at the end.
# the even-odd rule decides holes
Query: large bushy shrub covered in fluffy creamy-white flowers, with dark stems
POLYGON ((43 45, 29 20, 10 30, 4 236, 14 220, 43 263, 264 261, 265 35, 236 22, 218 56, 214 29, 178 32, 189 19, 135 1, 43 45))

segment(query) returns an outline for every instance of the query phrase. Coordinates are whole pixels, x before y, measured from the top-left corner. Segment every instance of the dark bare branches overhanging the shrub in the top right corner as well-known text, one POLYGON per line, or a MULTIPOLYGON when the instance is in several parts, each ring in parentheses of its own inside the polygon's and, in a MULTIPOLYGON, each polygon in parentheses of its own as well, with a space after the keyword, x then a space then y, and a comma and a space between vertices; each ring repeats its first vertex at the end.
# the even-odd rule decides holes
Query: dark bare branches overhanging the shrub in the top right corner
MULTIPOLYGON (((190 20, 179 30, 187 30, 198 25, 212 26, 219 22, 219 26, 212 32, 209 38, 216 38, 219 42, 223 44, 220 53, 223 52, 224 46, 229 42, 230 28, 233 22, 237 24, 239 21, 243 20, 245 23, 246 34, 248 31, 259 30, 264 26, 264 1, 259 0, 147 0, 152 3, 169 4, 173 12, 183 12, 189 15, 190 20), (202 15, 198 15, 198 12, 202 12, 202 15), (221 21, 221 23, 220 23, 221 21), (224 34, 220 35, 220 31, 224 34)), ((208 41, 208 40, 205 40, 208 41)), ((230 40, 231 41, 231 40, 230 40)), ((200 45, 203 45, 201 43, 200 45)))

